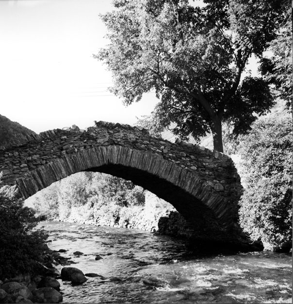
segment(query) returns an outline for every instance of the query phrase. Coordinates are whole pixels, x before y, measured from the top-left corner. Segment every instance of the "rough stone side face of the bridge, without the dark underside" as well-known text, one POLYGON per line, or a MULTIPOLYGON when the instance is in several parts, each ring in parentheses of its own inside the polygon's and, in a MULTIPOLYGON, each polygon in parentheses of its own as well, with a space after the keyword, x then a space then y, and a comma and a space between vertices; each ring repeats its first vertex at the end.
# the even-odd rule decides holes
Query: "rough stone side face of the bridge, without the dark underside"
POLYGON ((242 186, 227 155, 118 123, 99 121, 87 131, 73 127, 29 136, 25 145, 0 151, 1 182, 16 184, 28 197, 67 175, 107 163, 147 171, 204 202, 222 222, 237 220, 242 186))

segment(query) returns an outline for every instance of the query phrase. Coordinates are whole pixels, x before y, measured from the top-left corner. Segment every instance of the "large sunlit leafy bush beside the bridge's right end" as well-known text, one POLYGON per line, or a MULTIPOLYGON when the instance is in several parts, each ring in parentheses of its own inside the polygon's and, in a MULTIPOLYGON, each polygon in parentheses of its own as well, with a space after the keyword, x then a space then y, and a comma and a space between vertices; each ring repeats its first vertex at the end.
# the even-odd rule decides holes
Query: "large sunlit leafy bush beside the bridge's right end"
POLYGON ((240 224, 267 249, 292 242, 292 119, 260 119, 239 139, 240 224))

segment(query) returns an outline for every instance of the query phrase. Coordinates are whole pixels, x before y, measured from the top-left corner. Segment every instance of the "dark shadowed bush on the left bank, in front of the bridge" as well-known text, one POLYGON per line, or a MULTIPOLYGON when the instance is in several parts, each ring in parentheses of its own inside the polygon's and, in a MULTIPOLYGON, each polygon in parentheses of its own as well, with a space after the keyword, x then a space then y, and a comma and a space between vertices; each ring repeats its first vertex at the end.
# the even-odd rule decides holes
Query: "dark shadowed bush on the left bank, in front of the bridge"
POLYGON ((17 274, 32 274, 42 261, 48 237, 44 231, 32 231, 38 224, 31 208, 16 199, 15 187, 0 188, 0 279, 17 274))

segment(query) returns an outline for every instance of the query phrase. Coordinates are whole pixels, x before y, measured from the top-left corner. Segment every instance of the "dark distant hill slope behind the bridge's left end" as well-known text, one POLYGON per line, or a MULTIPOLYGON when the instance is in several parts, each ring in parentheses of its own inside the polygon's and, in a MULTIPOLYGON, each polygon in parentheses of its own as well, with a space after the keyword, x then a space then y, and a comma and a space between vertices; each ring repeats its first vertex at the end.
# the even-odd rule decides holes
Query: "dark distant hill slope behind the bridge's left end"
POLYGON ((28 134, 35 133, 18 122, 0 115, 0 150, 26 143, 28 134))

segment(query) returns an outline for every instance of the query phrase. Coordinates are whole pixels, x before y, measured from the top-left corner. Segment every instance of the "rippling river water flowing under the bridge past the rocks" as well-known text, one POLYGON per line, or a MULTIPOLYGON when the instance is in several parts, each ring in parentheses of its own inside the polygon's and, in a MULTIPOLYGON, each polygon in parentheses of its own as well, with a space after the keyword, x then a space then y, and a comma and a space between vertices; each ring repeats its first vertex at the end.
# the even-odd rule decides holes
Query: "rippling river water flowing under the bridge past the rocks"
POLYGON ((42 226, 50 249, 67 250, 61 254, 77 263, 71 267, 100 275, 80 286, 59 280, 63 303, 292 303, 288 254, 196 256, 184 241, 136 229, 42 226), (77 257, 75 251, 84 254, 77 257))

